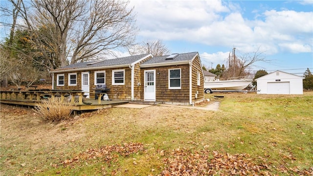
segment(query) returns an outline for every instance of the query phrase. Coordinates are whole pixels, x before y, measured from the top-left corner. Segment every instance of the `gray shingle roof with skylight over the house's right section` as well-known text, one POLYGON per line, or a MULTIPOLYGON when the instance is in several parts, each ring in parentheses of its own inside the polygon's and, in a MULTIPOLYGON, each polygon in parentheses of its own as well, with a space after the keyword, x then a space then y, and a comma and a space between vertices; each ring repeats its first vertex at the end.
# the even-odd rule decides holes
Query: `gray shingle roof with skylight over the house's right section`
POLYGON ((183 53, 183 54, 178 54, 177 57, 175 57, 173 60, 165 60, 168 56, 158 56, 158 57, 153 57, 147 61, 145 61, 142 64, 159 64, 159 63, 173 63, 173 62, 180 62, 180 61, 191 61, 198 52, 190 52, 190 53, 183 53))

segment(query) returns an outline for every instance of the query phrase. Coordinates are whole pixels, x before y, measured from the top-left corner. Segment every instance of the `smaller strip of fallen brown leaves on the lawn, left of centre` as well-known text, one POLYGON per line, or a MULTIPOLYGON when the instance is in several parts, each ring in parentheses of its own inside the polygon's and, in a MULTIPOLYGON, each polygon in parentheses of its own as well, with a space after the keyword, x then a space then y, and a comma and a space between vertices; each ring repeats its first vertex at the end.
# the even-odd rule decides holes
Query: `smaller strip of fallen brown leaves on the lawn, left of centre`
POLYGON ((75 166, 79 163, 93 160, 93 162, 116 162, 119 155, 129 156, 130 154, 143 151, 142 143, 124 143, 123 145, 108 145, 100 149, 87 149, 85 152, 74 156, 71 159, 66 159, 62 162, 64 166, 75 166), (115 154, 116 153, 116 154, 115 154), (119 155, 118 155, 119 154, 119 155))

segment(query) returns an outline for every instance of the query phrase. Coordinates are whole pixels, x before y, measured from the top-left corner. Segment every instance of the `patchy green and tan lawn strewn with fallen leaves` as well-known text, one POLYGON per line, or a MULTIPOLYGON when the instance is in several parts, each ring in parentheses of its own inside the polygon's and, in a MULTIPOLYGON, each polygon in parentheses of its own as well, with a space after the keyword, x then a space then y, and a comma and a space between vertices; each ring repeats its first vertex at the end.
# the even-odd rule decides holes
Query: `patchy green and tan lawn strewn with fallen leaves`
POLYGON ((214 95, 219 111, 111 108, 61 123, 1 104, 0 175, 313 174, 313 92, 214 95))

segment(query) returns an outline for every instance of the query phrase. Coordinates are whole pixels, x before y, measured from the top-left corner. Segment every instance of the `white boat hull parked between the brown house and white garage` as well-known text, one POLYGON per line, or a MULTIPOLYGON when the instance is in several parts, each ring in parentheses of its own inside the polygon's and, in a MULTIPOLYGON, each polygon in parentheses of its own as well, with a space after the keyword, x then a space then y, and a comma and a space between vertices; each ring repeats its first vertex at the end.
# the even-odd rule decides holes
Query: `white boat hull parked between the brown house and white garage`
POLYGON ((226 81, 211 81, 204 83, 204 89, 211 90, 242 90, 246 88, 253 80, 226 80, 226 81))

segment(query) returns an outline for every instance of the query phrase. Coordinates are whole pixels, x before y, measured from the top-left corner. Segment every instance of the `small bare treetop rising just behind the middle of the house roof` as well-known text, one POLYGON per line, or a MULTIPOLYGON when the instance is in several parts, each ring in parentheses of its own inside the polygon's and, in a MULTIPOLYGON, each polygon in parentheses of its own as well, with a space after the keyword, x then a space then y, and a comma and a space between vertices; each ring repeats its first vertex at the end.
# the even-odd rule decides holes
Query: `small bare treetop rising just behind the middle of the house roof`
POLYGON ((141 42, 128 48, 131 55, 151 53, 154 56, 164 56, 170 53, 170 50, 163 44, 162 40, 141 42))

